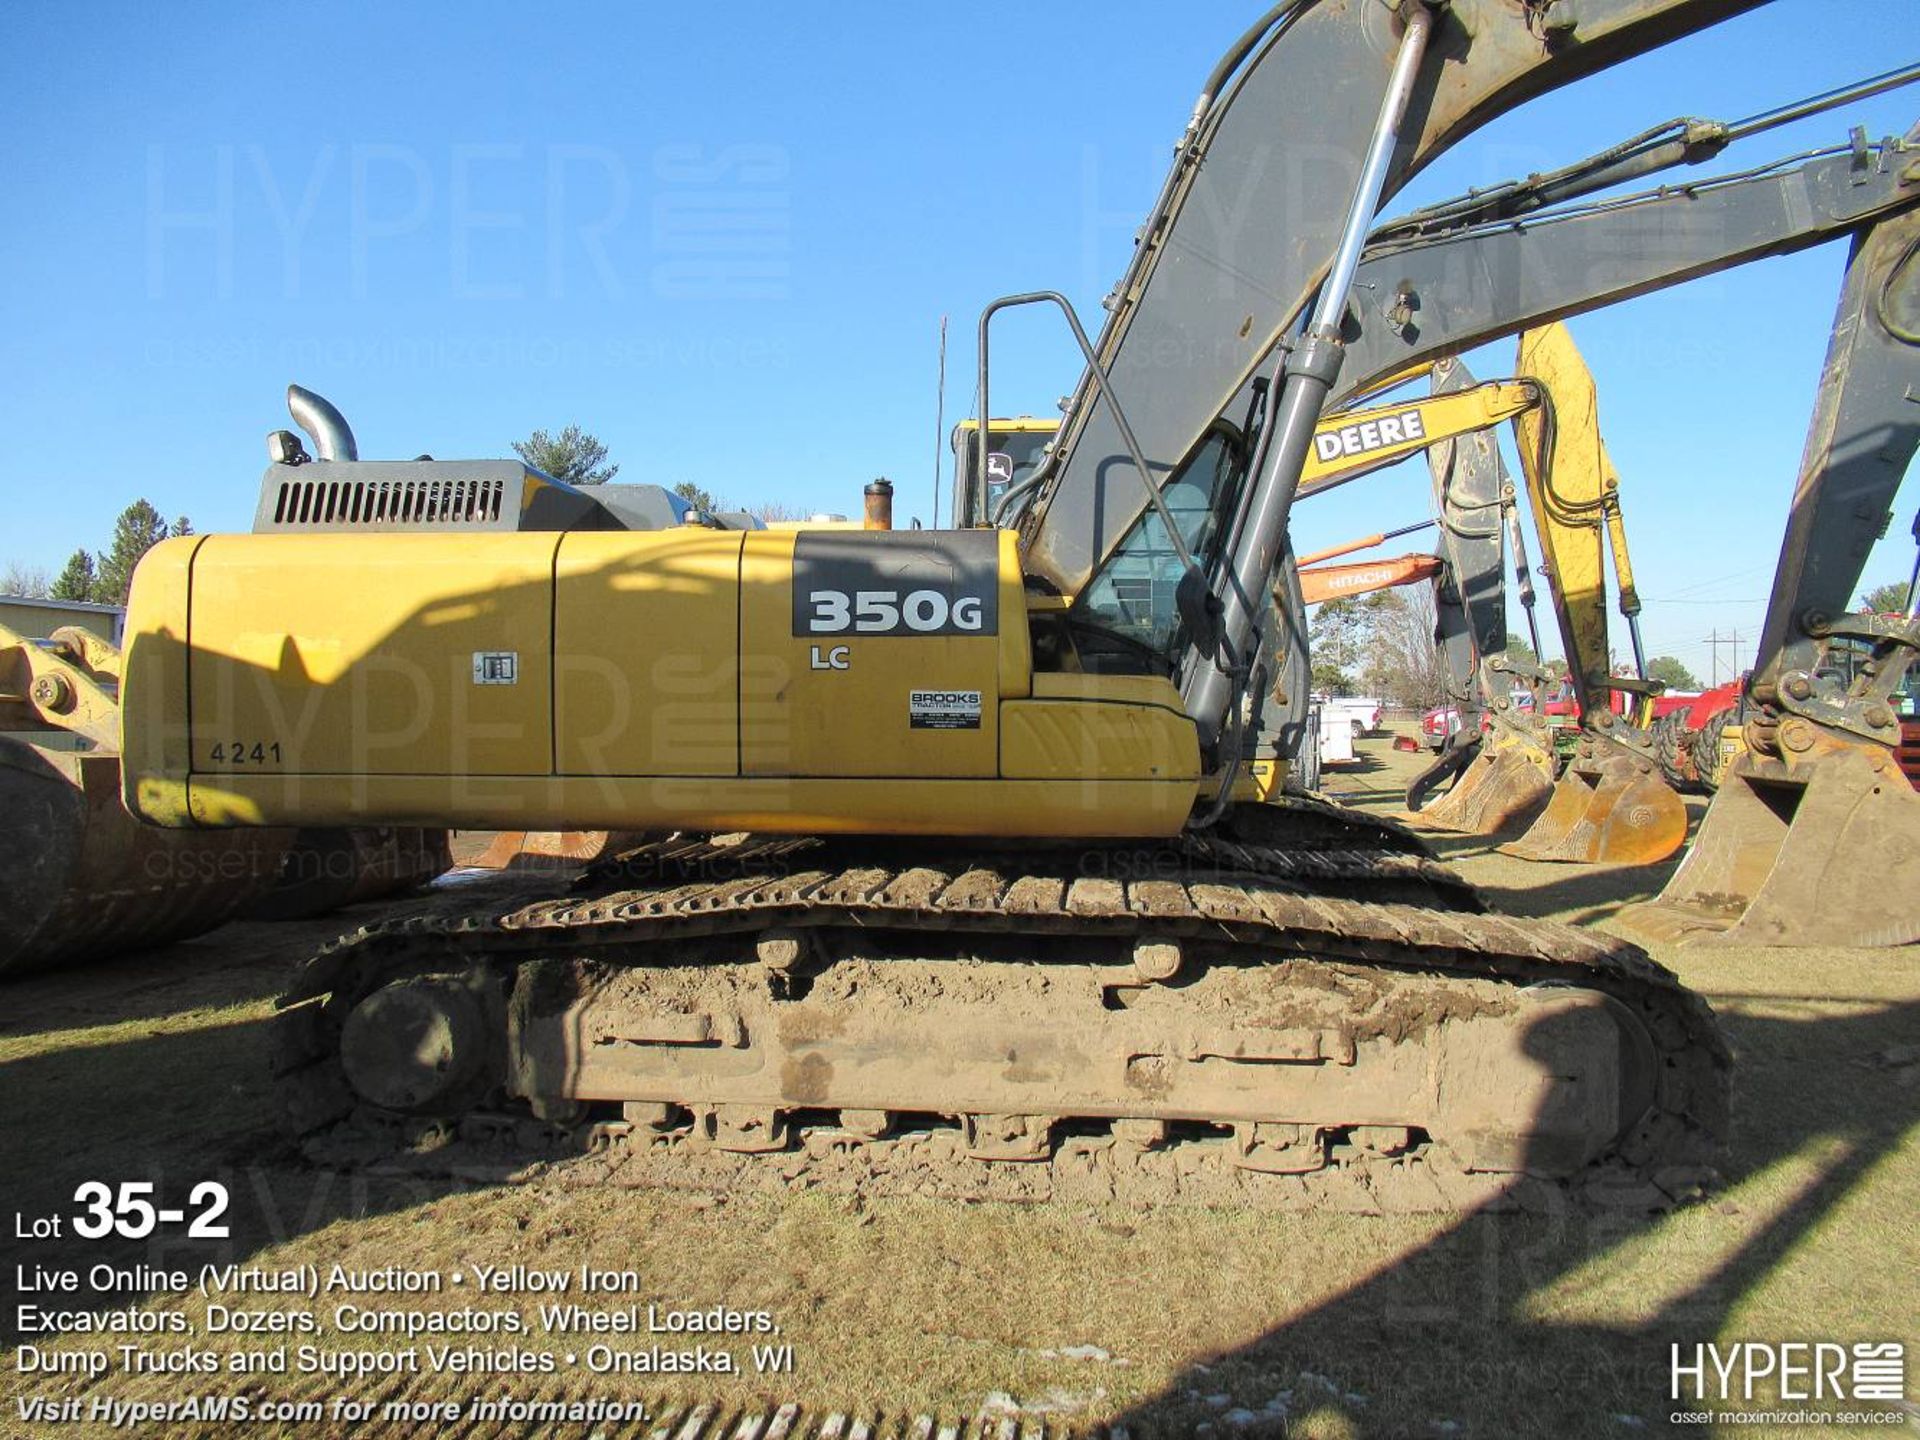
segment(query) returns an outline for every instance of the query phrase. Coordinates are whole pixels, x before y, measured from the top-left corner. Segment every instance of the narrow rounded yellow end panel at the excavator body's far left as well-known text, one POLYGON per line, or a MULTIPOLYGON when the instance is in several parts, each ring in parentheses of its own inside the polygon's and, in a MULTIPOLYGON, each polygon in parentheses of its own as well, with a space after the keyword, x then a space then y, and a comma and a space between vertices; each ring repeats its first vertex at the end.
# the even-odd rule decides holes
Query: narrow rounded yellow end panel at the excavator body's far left
POLYGON ((127 808, 186 824, 186 603, 204 536, 163 540, 140 559, 121 653, 121 785, 127 808))

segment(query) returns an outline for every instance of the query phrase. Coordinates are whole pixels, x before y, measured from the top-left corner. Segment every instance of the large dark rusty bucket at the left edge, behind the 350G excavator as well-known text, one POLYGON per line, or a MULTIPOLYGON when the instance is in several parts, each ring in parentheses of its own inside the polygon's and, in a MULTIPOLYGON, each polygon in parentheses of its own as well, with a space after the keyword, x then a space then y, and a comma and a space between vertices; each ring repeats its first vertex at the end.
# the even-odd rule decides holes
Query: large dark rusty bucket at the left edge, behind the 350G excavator
POLYGON ((142 826, 111 753, 0 737, 0 975, 198 935, 273 889, 288 829, 142 826))

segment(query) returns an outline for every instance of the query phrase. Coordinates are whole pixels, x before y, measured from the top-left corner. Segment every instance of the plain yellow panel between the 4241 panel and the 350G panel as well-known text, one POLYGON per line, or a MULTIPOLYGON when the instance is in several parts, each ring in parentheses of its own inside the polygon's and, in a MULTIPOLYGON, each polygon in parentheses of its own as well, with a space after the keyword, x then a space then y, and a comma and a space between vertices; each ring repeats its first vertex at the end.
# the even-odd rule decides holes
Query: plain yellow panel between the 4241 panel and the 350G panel
POLYGON ((561 540, 553 689, 563 776, 739 774, 739 551, 737 530, 561 540))

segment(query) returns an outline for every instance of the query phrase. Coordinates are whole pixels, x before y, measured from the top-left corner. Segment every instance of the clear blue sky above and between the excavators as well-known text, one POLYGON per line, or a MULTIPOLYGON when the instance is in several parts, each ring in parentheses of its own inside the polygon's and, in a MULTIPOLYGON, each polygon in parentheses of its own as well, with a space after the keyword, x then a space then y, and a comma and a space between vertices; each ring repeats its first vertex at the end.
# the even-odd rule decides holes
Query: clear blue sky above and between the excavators
MULTIPOLYGON (((367 457, 503 455, 578 422, 622 480, 852 511, 887 474, 927 516, 941 317, 948 422, 981 303, 1060 288, 1092 324, 1254 10, 12 6, 0 563, 58 568, 134 495, 246 528, 288 380, 367 457)), ((1672 115, 1768 109, 1916 38, 1914 0, 1774 0, 1496 121, 1400 207, 1672 115)), ((1745 159, 1905 131, 1916 96, 1745 159)), ((1824 248, 1574 323, 1649 647, 1699 672, 1711 630, 1759 630, 1839 269, 1824 248)), ((1073 388, 1056 324, 1008 324, 1004 409, 1073 388)), ((1511 349, 1469 359, 1494 378, 1511 349)), ((1419 518, 1425 484, 1336 492, 1298 541, 1419 518)), ((1870 584, 1912 564, 1914 492, 1870 584)))

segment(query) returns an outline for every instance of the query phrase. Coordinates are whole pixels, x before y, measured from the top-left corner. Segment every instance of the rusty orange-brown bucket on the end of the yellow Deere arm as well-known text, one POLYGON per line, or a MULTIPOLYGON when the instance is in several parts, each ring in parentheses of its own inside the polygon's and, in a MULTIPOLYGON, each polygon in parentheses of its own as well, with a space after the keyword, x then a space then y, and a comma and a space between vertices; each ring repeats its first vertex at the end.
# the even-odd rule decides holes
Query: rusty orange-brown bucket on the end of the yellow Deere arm
POLYGON ((1630 755, 1576 760, 1548 808, 1501 854, 1521 860, 1645 866, 1686 843, 1686 804, 1657 768, 1630 755))

